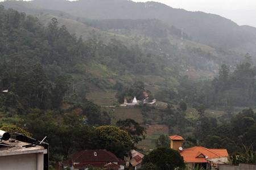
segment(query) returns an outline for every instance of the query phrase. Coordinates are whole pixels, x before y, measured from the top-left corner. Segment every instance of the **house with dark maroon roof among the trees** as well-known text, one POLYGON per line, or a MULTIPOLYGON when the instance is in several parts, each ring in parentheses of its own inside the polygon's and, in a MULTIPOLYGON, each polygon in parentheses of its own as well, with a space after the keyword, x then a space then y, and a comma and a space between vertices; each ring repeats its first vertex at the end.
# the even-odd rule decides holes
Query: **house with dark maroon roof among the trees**
POLYGON ((89 167, 111 170, 125 169, 125 162, 106 150, 85 150, 71 155, 71 159, 60 163, 63 169, 87 170, 89 167))

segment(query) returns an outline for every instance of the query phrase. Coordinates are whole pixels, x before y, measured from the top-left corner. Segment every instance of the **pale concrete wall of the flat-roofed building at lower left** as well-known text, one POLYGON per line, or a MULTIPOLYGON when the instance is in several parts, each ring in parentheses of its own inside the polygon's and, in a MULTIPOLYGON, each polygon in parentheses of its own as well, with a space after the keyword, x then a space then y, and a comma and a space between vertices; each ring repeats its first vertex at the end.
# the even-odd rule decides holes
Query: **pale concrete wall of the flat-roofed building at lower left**
POLYGON ((19 170, 42 170, 44 156, 43 154, 23 154, 0 157, 0 170, 19 169, 19 170))

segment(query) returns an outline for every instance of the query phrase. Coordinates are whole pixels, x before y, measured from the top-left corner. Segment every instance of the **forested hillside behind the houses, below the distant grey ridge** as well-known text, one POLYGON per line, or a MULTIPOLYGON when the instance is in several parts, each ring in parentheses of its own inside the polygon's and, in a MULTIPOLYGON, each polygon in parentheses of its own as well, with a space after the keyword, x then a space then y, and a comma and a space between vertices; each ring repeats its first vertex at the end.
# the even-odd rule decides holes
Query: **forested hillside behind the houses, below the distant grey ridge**
MULTIPOLYGON (((0 5, 1 126, 20 126, 37 139, 47 136, 51 164, 92 148, 122 158, 141 145, 139 125, 146 124, 168 126, 169 134, 186 138, 185 147, 227 148, 231 154, 252 145, 255 151, 256 67, 249 53, 210 48, 185 33, 181 41, 180 29, 158 19, 86 19, 84 38, 59 23, 70 20, 50 16, 39 16, 41 23, 0 5), (125 108, 126 116, 134 112, 140 118, 120 123, 118 110, 123 116, 125 109, 119 105, 134 96, 143 100, 143 92, 157 103, 125 108), (93 103, 91 94, 110 98, 98 104, 116 109, 93 103), (125 123, 136 125, 138 133, 125 123)), ((152 138, 156 146, 170 144, 162 137, 152 138)))

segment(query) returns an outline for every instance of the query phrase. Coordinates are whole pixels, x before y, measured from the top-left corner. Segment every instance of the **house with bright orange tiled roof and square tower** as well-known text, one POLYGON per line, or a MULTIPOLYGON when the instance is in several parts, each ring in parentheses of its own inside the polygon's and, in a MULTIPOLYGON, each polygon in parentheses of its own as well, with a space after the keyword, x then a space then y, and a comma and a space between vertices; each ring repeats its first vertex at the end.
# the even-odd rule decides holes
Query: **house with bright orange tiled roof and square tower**
POLYGON ((224 164, 228 162, 228 151, 224 148, 212 149, 202 146, 195 146, 191 148, 183 149, 181 142, 184 140, 179 135, 173 135, 169 137, 171 139, 171 148, 180 152, 183 156, 184 162, 188 167, 196 167, 199 164, 200 167, 211 168, 216 164, 224 164))

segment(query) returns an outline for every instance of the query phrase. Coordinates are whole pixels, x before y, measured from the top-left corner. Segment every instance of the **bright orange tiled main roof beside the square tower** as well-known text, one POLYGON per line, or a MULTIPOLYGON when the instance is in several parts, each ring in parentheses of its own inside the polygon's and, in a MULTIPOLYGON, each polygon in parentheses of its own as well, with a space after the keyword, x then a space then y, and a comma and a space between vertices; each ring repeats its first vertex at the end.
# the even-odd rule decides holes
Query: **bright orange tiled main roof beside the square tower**
POLYGON ((208 149, 201 146, 184 149, 182 152, 180 152, 180 155, 183 156, 184 161, 187 163, 207 162, 207 160, 205 160, 205 156, 208 156, 207 159, 229 156, 226 149, 208 149))

